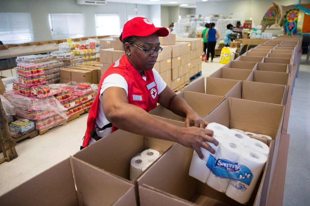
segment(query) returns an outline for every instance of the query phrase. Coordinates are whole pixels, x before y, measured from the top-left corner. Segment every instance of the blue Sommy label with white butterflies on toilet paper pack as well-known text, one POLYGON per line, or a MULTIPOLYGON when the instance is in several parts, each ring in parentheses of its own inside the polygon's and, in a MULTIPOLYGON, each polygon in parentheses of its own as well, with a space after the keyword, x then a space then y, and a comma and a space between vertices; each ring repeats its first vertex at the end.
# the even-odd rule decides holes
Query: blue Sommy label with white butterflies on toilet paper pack
POLYGON ((215 159, 210 155, 206 166, 215 176, 234 179, 246 185, 250 185, 253 179, 251 170, 238 162, 232 162, 227 159, 215 159))

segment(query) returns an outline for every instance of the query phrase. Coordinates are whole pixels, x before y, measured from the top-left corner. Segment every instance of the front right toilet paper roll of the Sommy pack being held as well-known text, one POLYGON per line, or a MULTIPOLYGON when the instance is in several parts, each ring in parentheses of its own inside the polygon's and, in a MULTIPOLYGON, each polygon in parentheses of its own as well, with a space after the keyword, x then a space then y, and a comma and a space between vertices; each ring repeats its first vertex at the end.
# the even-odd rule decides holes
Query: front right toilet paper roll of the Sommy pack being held
MULTIPOLYGON (((241 204, 250 200, 252 192, 256 186, 259 176, 267 161, 267 157, 259 152, 246 148, 238 157, 239 165, 245 165, 250 169, 250 173, 242 172, 239 179, 252 179, 250 185, 241 181, 231 180, 225 194, 241 204)), ((241 170, 242 171, 242 170, 241 170)))

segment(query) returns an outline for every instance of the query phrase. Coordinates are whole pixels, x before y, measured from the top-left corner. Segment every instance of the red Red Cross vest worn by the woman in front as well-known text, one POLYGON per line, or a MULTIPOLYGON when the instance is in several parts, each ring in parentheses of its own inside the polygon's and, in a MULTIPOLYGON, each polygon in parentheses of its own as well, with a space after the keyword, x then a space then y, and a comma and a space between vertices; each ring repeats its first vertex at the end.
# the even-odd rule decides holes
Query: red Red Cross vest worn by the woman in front
MULTIPOLYGON (((126 55, 123 55, 107 69, 99 82, 98 94, 95 97, 94 103, 91 105, 87 118, 87 128, 83 140, 83 147, 88 145, 90 132, 95 127, 97 107, 101 107, 101 104, 98 104, 100 103, 99 95, 102 82, 110 74, 120 74, 125 78, 128 84, 128 103, 136 105, 145 111, 150 111, 157 106, 158 90, 153 71, 144 71, 144 76, 146 77, 146 81, 144 81, 140 73, 128 61, 126 55)), ((117 128, 113 125, 112 132, 115 130, 117 130, 117 128)))

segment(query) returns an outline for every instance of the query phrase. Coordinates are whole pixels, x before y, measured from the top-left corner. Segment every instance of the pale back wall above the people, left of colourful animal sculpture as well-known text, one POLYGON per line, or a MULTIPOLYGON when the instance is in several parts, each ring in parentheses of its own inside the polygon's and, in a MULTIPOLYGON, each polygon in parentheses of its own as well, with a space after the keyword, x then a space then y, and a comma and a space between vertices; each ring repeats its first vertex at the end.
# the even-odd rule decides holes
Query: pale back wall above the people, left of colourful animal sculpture
MULTIPOLYGON (((273 0, 235 0, 235 1, 212 1, 196 2, 196 14, 209 16, 211 14, 224 14, 241 20, 253 18, 256 25, 259 25, 265 12, 273 6, 273 0)), ((306 3, 309 0, 301 0, 306 3)), ((277 0, 281 5, 294 4, 294 0, 277 0)))

